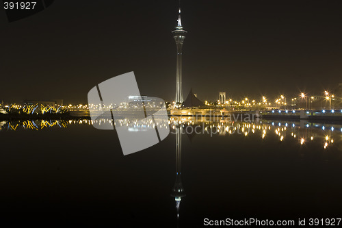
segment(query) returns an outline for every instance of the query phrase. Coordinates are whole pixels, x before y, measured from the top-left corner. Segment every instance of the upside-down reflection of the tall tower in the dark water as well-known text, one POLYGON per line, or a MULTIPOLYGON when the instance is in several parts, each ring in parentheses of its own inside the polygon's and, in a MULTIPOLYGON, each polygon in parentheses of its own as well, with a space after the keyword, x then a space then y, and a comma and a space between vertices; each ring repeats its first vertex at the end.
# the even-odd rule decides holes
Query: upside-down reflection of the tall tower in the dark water
POLYGON ((175 126, 176 131, 176 181, 172 189, 171 196, 176 201, 177 224, 179 223, 179 210, 181 207, 182 197, 185 197, 185 192, 181 179, 181 159, 182 159, 182 125, 175 126))

